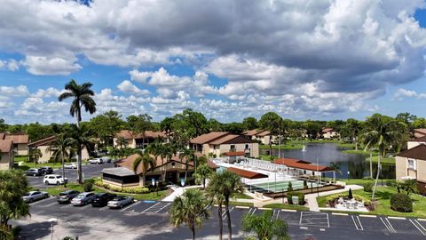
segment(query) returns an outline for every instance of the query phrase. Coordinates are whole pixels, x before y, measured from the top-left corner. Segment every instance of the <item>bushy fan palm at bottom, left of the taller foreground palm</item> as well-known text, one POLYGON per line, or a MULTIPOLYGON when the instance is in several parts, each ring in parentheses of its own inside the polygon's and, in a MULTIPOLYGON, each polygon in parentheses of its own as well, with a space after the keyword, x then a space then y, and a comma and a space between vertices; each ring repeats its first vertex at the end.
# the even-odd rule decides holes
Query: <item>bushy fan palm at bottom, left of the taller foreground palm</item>
POLYGON ((171 206, 171 222, 177 228, 185 224, 191 229, 195 239, 195 227, 201 228, 202 220, 209 218, 208 201, 198 189, 186 189, 182 196, 177 196, 171 206))

